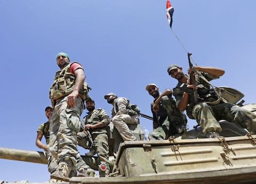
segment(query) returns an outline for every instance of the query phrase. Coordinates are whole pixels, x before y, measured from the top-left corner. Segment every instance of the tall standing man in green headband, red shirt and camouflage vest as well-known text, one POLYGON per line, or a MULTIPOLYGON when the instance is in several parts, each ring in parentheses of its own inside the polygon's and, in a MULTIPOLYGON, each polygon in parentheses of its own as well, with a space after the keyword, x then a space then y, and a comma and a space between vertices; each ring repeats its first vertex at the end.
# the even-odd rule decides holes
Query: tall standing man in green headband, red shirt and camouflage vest
POLYGON ((70 63, 68 54, 56 57, 60 68, 50 88, 50 99, 54 107, 50 121, 49 149, 57 159, 58 169, 51 178, 69 181, 69 173, 76 165, 77 133, 81 122, 79 117, 88 98, 84 69, 77 63, 70 63))

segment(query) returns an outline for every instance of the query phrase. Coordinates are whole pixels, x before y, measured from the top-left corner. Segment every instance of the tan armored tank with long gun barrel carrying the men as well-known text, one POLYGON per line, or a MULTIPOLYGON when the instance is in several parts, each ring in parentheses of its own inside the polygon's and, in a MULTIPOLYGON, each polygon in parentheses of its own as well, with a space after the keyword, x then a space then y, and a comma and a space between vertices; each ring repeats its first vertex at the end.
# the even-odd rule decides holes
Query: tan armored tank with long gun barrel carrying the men
MULTIPOLYGON (((223 90, 238 96, 237 91, 223 90)), ((256 103, 243 108, 256 113, 256 103)), ((220 124, 222 132, 218 138, 205 138, 201 128, 195 127, 169 140, 120 141, 118 149, 113 146, 108 177, 73 177, 69 183, 256 183, 256 135, 233 123, 220 124)), ((131 129, 135 136, 143 138, 140 127, 131 129)), ((112 139, 118 139, 115 136, 112 139)), ((0 158, 47 163, 44 153, 37 151, 0 148, 0 158)), ((98 169, 97 157, 83 159, 92 169, 98 169)))

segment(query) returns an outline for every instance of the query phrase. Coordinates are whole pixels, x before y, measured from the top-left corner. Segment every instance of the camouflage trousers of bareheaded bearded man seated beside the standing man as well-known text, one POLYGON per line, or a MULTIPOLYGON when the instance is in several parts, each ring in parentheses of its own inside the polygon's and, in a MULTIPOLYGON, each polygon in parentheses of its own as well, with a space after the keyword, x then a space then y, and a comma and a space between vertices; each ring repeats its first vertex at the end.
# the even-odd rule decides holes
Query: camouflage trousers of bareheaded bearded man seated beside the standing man
MULTIPOLYGON (((107 133, 92 133, 92 139, 95 145, 92 149, 95 149, 98 155, 98 165, 105 163, 109 166, 107 133)), ((86 134, 84 132, 79 132, 77 134, 77 140, 79 146, 89 149, 87 146, 86 134)))

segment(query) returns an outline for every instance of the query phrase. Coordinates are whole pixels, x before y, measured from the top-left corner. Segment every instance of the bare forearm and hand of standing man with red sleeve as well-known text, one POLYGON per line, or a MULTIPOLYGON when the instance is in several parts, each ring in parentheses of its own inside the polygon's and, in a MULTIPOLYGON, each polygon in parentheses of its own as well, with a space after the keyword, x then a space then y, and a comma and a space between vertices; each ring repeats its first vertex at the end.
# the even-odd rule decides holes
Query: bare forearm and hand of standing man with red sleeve
POLYGON ((75 107, 76 97, 78 95, 79 90, 84 85, 84 79, 85 79, 84 70, 82 68, 76 69, 74 71, 74 75, 76 76, 75 86, 72 93, 68 95, 68 99, 67 99, 67 103, 69 107, 75 107))

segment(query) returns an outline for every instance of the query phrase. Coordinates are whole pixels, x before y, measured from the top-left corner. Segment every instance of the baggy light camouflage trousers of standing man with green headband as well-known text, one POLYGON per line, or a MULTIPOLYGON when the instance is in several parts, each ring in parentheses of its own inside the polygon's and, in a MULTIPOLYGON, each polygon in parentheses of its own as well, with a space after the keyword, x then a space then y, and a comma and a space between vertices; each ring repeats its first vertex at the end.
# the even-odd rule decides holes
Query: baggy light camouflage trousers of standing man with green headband
POLYGON ((67 97, 57 102, 50 121, 50 140, 47 145, 56 162, 76 165, 77 133, 81 123, 79 117, 84 109, 82 99, 76 98, 74 108, 68 107, 67 97))

